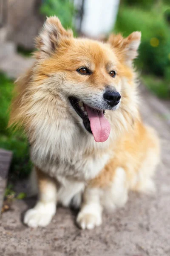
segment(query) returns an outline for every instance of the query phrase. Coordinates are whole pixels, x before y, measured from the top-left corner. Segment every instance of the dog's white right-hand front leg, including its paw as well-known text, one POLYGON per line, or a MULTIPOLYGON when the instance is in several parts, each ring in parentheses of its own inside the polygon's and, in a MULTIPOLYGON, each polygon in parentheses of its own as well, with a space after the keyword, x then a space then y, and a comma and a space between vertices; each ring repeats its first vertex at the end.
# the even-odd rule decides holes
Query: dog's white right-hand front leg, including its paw
POLYGON ((82 229, 93 229, 102 224, 100 193, 99 188, 86 188, 83 195, 83 204, 77 217, 77 223, 82 229))

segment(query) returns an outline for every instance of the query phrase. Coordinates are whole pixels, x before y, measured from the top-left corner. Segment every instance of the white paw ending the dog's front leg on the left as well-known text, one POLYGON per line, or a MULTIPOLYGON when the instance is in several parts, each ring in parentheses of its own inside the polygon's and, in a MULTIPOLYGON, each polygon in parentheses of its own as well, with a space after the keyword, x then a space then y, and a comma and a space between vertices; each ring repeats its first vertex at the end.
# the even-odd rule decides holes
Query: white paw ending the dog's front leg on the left
POLYGON ((29 227, 46 227, 55 214, 55 204, 38 203, 36 207, 26 212, 24 223, 29 227))

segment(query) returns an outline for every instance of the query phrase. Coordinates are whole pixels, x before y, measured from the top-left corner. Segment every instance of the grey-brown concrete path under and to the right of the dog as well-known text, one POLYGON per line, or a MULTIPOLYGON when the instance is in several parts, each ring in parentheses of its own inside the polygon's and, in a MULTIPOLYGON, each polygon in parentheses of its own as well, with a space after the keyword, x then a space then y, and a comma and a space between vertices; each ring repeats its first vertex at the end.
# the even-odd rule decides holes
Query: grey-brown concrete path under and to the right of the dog
POLYGON ((0 219, 0 256, 170 256, 170 111, 144 87, 142 98, 142 116, 161 138, 156 195, 131 192, 125 208, 104 213, 94 230, 80 230, 64 208, 48 227, 28 228, 22 216, 35 200, 16 200, 0 219))

